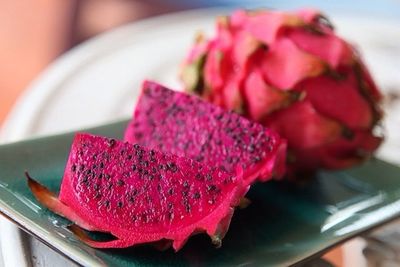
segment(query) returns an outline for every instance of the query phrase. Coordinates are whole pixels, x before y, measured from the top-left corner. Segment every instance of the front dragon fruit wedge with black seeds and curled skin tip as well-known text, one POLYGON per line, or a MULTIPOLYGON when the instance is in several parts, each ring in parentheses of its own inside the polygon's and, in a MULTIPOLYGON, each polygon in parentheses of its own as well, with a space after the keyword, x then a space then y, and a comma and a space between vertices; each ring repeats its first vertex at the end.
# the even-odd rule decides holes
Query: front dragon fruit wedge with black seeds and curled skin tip
POLYGON ((58 197, 31 178, 35 197, 52 211, 86 230, 111 233, 97 248, 143 243, 172 243, 178 251, 187 239, 206 232, 220 245, 234 207, 248 190, 241 170, 228 174, 188 158, 148 150, 138 144, 77 134, 58 197))

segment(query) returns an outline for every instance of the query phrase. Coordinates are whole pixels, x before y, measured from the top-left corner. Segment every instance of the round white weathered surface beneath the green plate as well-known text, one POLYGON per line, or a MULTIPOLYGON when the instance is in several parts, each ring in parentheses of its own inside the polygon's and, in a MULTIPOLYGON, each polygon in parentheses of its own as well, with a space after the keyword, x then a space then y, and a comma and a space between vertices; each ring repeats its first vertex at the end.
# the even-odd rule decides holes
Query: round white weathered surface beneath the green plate
MULTIPOLYGON (((1 142, 129 117, 143 79, 179 88, 179 66, 195 33, 212 33, 215 16, 227 12, 213 9, 161 16, 79 45, 56 60, 26 90, 3 126, 1 142)), ((400 20, 371 21, 335 14, 331 18, 342 36, 359 44, 382 89, 400 90, 400 20)), ((388 139, 380 156, 399 163, 400 105, 391 105, 387 113, 388 139)), ((6 266, 25 265, 19 232, 6 222, 1 227, 6 266)), ((53 257, 47 258, 47 263, 61 261, 53 257)))

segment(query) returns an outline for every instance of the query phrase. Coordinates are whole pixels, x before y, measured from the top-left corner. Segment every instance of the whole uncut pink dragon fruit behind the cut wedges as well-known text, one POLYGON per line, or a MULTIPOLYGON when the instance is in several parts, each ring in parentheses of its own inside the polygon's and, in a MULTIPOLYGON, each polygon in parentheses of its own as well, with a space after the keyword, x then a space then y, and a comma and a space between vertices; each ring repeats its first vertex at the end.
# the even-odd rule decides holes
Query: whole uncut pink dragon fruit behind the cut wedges
POLYGON ((185 89, 280 133, 292 173, 349 167, 379 146, 381 94, 321 13, 239 10, 216 27, 188 54, 185 89))

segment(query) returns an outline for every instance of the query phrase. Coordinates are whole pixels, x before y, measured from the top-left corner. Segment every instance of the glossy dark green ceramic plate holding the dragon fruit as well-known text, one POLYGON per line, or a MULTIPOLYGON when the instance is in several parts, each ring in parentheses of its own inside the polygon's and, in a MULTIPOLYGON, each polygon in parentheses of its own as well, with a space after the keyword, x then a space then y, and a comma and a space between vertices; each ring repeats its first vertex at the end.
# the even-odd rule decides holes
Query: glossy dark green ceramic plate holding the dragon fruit
MULTIPOLYGON (((87 130, 120 138, 126 121, 87 130)), ((344 172, 321 172, 308 183, 256 184, 252 203, 237 210, 220 249, 197 235, 178 253, 150 246, 93 249, 66 228, 69 221, 41 207, 28 170, 58 191, 73 133, 0 146, 0 211, 26 232, 85 266, 287 266, 396 218, 400 168, 371 160, 344 172)))

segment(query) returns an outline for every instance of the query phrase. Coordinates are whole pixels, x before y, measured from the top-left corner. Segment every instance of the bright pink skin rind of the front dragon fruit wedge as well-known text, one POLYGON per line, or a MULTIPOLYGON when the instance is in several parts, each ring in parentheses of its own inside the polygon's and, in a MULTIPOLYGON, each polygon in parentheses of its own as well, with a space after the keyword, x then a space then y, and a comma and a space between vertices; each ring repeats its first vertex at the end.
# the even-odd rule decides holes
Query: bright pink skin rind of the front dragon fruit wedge
POLYGON ((241 197, 244 196, 249 189, 248 186, 243 186, 243 171, 238 169, 238 186, 236 186, 234 190, 231 190, 228 195, 225 195, 225 199, 219 203, 219 206, 216 209, 193 225, 156 233, 143 233, 140 231, 140 229, 138 229, 138 232, 134 232, 131 229, 111 229, 111 227, 108 225, 107 218, 93 217, 91 210, 83 209, 83 207, 86 206, 82 205, 82 203, 76 198, 76 194, 73 190, 72 181, 74 176, 70 171, 72 167, 71 158, 77 152, 77 146, 80 145, 79 142, 82 136, 84 136, 84 134, 76 135, 75 142, 72 146, 66 165, 66 171, 62 180, 61 191, 58 199, 54 196, 54 194, 52 194, 43 186, 39 185, 37 182, 33 180, 32 182, 30 178, 28 180, 28 184, 30 184, 30 188, 35 197, 53 212, 72 220, 84 229, 111 233, 117 238, 116 240, 107 242, 97 242, 94 240, 85 239, 84 242, 92 247, 124 248, 138 244, 154 243, 166 239, 171 240, 173 242, 173 248, 175 251, 178 251, 185 244, 187 239, 196 233, 206 232, 211 237, 217 236, 218 239, 222 239, 229 228, 234 207, 239 205, 241 197), (32 183, 36 183, 37 185, 41 186, 41 192, 35 190, 32 187, 32 183))

